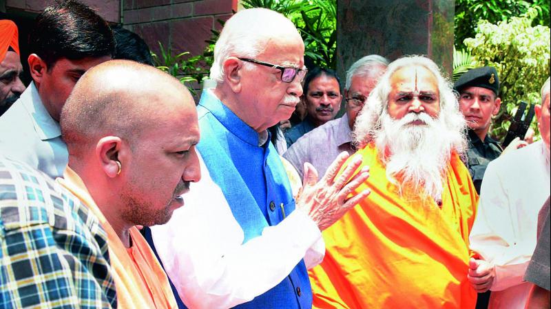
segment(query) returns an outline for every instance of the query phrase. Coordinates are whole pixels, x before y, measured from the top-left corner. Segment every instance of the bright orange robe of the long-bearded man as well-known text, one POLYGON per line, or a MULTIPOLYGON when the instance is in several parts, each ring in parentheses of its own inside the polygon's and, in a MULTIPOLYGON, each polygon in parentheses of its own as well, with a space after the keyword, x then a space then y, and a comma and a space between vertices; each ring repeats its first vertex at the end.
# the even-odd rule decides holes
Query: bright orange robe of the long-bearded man
POLYGON ((322 235, 324 261, 309 272, 314 308, 475 308, 468 237, 478 196, 454 152, 439 208, 406 200, 371 144, 359 150, 371 195, 322 235))

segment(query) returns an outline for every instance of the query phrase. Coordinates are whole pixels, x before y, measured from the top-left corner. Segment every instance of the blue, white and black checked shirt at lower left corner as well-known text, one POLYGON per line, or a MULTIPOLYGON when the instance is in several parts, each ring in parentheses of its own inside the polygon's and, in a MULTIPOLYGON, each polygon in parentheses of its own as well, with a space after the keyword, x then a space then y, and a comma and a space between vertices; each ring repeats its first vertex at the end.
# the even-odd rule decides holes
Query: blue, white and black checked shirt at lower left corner
POLYGON ((1 156, 0 308, 116 308, 98 219, 47 175, 1 156))

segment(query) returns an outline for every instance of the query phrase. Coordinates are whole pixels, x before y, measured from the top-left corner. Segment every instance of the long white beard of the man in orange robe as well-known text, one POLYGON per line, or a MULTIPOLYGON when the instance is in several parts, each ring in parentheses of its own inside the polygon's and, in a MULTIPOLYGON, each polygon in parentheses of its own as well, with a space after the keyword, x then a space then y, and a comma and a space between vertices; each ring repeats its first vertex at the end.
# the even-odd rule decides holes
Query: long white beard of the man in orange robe
POLYGON ((446 166, 457 141, 464 139, 461 132, 450 130, 443 120, 424 112, 410 112, 399 120, 383 112, 380 120, 374 141, 386 163, 387 179, 398 186, 401 195, 424 192, 422 197, 441 201, 446 166), (415 120, 426 124, 411 124, 415 120))

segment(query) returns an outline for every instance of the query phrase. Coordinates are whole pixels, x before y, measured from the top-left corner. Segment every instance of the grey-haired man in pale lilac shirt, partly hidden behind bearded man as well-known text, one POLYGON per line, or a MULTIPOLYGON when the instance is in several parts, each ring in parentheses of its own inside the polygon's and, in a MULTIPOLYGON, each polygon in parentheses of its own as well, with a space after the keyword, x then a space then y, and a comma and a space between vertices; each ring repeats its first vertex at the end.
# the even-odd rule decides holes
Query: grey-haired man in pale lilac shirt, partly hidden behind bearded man
POLYGON ((303 175, 304 162, 311 163, 319 175, 324 175, 333 161, 341 152, 349 155, 355 152, 352 144, 352 130, 356 116, 369 94, 377 85, 377 80, 386 70, 388 60, 371 54, 353 63, 346 72, 346 114, 339 119, 325 123, 311 132, 304 134, 283 157, 303 175))

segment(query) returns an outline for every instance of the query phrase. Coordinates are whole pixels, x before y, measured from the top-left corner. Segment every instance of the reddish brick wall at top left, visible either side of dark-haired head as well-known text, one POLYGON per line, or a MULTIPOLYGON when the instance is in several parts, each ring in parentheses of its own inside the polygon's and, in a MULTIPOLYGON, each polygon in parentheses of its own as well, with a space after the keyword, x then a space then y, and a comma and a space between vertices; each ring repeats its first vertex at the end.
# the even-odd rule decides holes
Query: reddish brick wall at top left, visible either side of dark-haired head
MULTIPOLYGON (((174 52, 201 54, 217 19, 227 20, 238 0, 81 0, 111 23, 140 34, 158 52, 158 42, 174 52), (121 7, 123 13, 121 14, 121 7)), ((54 0, 6 0, 8 12, 38 14, 54 0)))

